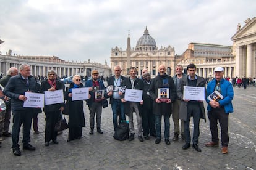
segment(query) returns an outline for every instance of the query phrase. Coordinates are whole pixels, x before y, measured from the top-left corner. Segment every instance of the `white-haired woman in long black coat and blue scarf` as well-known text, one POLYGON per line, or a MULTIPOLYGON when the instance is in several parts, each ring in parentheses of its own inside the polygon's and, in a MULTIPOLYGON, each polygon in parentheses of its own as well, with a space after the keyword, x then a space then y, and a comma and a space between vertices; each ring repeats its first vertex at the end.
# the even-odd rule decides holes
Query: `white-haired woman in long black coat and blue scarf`
POLYGON ((81 139, 82 128, 85 127, 85 115, 83 112, 83 100, 72 101, 72 89, 81 88, 81 77, 74 75, 73 82, 69 85, 69 90, 66 92, 67 100, 69 101, 69 138, 67 142, 75 139, 81 139), (72 110, 72 111, 71 111, 72 110))

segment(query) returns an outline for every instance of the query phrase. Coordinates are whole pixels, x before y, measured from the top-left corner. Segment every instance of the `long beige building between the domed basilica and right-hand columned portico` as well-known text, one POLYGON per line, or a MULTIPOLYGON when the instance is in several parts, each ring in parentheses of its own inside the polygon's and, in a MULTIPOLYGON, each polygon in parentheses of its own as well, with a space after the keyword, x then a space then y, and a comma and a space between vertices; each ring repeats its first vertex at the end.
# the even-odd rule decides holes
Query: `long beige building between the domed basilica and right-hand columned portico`
POLYGON ((190 43, 188 49, 181 55, 176 63, 184 67, 187 72, 187 65, 194 63, 197 66, 197 74, 204 78, 213 77, 215 67, 224 68, 225 77, 235 75, 235 59, 232 46, 217 44, 190 43))

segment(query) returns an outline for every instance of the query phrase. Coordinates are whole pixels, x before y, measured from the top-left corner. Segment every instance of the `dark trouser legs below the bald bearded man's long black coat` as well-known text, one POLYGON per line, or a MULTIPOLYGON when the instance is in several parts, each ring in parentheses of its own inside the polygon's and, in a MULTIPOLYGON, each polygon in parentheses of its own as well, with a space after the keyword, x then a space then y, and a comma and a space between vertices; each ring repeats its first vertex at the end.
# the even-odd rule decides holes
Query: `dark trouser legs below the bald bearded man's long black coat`
MULTIPOLYGON (((169 139, 170 137, 170 116, 169 114, 164 114, 164 139, 169 139)), ((161 121, 162 115, 155 115, 156 118, 156 137, 161 138, 161 121)))

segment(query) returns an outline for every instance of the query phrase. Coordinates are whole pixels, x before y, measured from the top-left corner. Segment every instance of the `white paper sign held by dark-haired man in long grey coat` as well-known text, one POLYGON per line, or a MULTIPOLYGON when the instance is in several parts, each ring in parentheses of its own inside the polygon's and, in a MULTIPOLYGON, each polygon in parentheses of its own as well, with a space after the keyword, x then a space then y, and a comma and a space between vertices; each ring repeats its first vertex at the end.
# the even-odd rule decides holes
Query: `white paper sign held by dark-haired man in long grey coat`
POLYGON ((183 99, 187 100, 205 100, 205 87, 184 86, 183 99))

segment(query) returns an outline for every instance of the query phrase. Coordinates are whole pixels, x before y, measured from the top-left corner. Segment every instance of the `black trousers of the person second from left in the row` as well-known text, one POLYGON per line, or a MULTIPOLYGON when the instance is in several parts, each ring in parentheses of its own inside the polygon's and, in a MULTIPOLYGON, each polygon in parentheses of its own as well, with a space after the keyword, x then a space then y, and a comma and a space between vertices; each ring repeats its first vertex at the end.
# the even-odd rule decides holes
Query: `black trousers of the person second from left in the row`
POLYGON ((57 132, 54 130, 54 127, 58 122, 60 114, 60 111, 45 112, 45 142, 57 139, 57 132))

